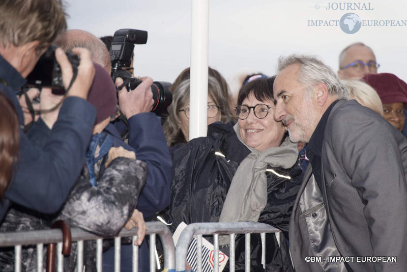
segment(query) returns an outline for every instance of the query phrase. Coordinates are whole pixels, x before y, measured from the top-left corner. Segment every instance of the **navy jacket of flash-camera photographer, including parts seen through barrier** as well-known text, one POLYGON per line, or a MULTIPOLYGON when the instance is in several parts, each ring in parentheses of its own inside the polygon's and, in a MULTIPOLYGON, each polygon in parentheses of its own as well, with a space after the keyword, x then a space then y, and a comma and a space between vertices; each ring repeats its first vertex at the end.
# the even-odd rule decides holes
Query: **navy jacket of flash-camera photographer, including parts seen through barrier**
MULTIPOLYGON (((154 215, 169 205, 172 180, 172 159, 162 130, 160 119, 153 113, 141 113, 130 117, 129 145, 125 144, 120 132, 127 129, 122 120, 108 124, 105 132, 113 135, 113 146, 122 146, 134 151, 136 158, 147 163, 147 181, 138 198, 137 209, 145 218, 154 215)), ((122 244, 121 269, 131 271, 132 245, 122 244)), ((148 247, 143 242, 139 251, 139 271, 149 271, 148 247)), ((114 269, 114 248, 103 253, 103 271, 114 269)))

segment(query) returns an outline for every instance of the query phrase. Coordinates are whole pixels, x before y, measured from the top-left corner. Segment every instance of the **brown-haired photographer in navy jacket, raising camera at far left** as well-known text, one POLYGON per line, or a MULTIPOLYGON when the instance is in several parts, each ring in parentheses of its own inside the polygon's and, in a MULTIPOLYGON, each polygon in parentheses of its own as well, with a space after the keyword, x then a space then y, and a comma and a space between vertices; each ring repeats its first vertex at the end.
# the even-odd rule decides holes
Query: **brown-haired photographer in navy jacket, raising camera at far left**
MULTIPOLYGON (((20 127, 22 108, 15 92, 25 84, 39 57, 66 29, 62 3, 57 0, 0 2, 0 89, 14 104, 20 127)), ((94 76, 88 50, 76 48, 80 64, 44 148, 38 148, 20 129, 20 154, 14 177, 0 204, 0 221, 10 202, 43 213, 56 212, 67 198, 83 166, 95 122, 95 108, 86 101, 94 76)), ((73 69, 61 49, 55 52, 68 89, 73 69)))

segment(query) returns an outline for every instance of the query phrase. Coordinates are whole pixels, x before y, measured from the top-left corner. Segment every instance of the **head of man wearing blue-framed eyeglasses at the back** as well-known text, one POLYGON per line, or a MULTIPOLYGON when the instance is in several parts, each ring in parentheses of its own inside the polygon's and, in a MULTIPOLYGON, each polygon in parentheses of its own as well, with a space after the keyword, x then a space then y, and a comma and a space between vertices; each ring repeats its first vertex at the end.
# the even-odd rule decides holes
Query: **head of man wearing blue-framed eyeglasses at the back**
POLYGON ((340 79, 361 78, 366 74, 376 74, 379 66, 373 50, 364 43, 357 42, 340 53, 338 76, 340 79))

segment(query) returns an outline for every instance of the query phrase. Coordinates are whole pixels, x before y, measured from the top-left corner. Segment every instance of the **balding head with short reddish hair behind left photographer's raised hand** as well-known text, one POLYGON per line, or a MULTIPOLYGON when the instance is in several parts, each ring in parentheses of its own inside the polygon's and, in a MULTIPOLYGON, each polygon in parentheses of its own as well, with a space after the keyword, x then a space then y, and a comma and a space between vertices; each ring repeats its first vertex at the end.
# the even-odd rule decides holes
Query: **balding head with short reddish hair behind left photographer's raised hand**
POLYGON ((110 56, 105 44, 95 35, 84 30, 68 30, 59 35, 54 44, 65 51, 84 47, 91 51, 93 62, 102 65, 110 73, 110 56))

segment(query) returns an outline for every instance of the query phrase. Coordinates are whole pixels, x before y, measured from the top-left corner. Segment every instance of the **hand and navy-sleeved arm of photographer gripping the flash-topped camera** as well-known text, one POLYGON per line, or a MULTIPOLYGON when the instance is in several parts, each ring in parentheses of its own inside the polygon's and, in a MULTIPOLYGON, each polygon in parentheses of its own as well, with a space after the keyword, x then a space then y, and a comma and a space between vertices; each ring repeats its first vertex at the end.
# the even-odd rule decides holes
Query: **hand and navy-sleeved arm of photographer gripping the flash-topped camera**
MULTIPOLYGON (((153 80, 150 77, 142 80, 135 90, 127 92, 123 88, 119 91, 119 104, 128 121, 128 143, 137 150, 137 159, 146 161, 148 165, 147 182, 141 191, 137 209, 143 212, 144 217, 151 218, 169 204, 172 164, 160 120, 150 113, 154 102, 150 90, 153 80)), ((121 78, 116 80, 116 86, 122 83, 121 78)), ((122 270, 131 271, 131 245, 122 245, 121 252, 122 270)), ((148 247, 143 243, 139 253, 140 271, 149 271, 148 256, 148 247)), ((104 269, 113 268, 114 249, 110 248, 103 258, 104 269)))

